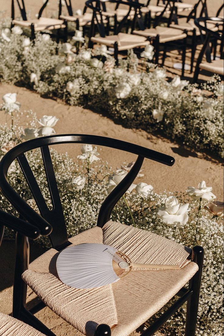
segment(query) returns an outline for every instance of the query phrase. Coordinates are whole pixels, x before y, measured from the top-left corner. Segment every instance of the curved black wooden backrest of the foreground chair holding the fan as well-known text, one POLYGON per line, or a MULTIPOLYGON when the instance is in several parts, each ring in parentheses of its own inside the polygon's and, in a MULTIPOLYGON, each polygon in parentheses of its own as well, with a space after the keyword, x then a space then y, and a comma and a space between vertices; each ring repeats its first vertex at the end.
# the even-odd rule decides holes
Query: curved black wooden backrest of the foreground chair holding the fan
POLYGON ((122 197, 122 195, 127 191, 137 176, 144 158, 161 162, 169 166, 172 166, 175 161, 171 156, 129 142, 102 136, 83 134, 63 134, 36 138, 23 142, 11 149, 3 156, 0 162, 0 190, 21 216, 39 228, 41 234, 48 235, 51 233, 50 240, 52 245, 58 250, 68 246, 70 243, 68 242, 66 225, 51 160, 51 154, 49 151, 49 145, 61 143, 89 143, 94 145, 107 146, 138 155, 137 160, 131 170, 103 202, 97 221, 97 225, 100 227, 103 227, 103 225, 110 219, 110 215, 114 206, 122 197), (34 173, 25 156, 26 152, 37 148, 41 149, 43 166, 45 169, 46 180, 48 182, 48 188, 51 196, 52 210, 48 208, 34 173), (8 168, 10 164, 16 159, 21 167, 27 184, 29 185, 41 216, 16 193, 7 180, 8 168), (53 227, 52 232, 51 226, 53 227))

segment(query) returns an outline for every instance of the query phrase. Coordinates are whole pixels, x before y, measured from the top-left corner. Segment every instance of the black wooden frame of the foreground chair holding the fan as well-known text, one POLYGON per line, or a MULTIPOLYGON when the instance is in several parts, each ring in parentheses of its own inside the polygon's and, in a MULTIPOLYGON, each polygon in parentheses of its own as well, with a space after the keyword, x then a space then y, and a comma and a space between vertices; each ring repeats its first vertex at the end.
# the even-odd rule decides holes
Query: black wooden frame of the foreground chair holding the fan
MULTIPOLYGON (((151 159, 153 161, 160 162, 162 164, 172 166, 175 162, 174 158, 162 154, 136 144, 128 143, 125 141, 111 139, 102 136, 95 135, 83 135, 83 134, 62 134, 46 136, 42 138, 36 138, 23 142, 8 153, 4 155, 0 162, 0 190, 6 199, 15 207, 20 216, 27 220, 29 223, 22 221, 22 225, 16 226, 16 222, 11 222, 11 228, 17 230, 16 234, 16 260, 15 260, 15 277, 13 287, 13 317, 30 324, 37 330, 48 336, 55 336, 55 334, 49 330, 43 323, 41 323, 33 314, 45 307, 44 302, 40 302, 30 310, 26 309, 26 288, 27 285, 21 279, 22 273, 28 268, 29 265, 29 239, 37 239, 39 235, 49 235, 52 246, 61 251, 65 247, 69 246, 60 195, 58 192, 57 182, 54 174, 54 168, 51 161, 51 154, 49 145, 64 144, 64 143, 89 143, 94 145, 107 146, 110 148, 127 151, 137 155, 137 159, 127 173, 124 179, 114 188, 114 190, 104 200, 98 215, 97 226, 103 227, 103 225, 110 219, 111 212, 127 191, 135 177, 137 176, 144 158, 151 159), (25 157, 25 153, 34 149, 40 148, 43 158, 43 165, 45 168, 46 179, 48 182, 49 192, 52 200, 53 208, 49 210, 34 174, 29 166, 29 163, 25 157), (39 215, 34 211, 10 186, 7 173, 10 164, 17 160, 23 175, 29 185, 29 188, 33 194, 36 204, 39 208, 39 215), (25 224, 27 227, 25 227, 25 224), (13 226, 14 225, 14 226, 13 226), (21 228, 25 228, 22 230, 21 228), (26 231, 27 230, 27 231, 26 231)), ((6 221, 3 223, 5 224, 6 221)), ((191 260, 196 262, 199 266, 198 272, 192 277, 189 282, 189 287, 183 287, 177 295, 179 299, 169 307, 160 318, 158 318, 142 335, 150 336, 158 330, 164 322, 166 322, 178 308, 187 301, 187 320, 186 320, 186 336, 193 336, 195 334, 197 323, 197 312, 199 304, 201 275, 203 268, 203 256, 204 251, 200 246, 195 246, 191 252, 191 260)), ((99 325, 95 336, 111 335, 109 326, 99 325)))

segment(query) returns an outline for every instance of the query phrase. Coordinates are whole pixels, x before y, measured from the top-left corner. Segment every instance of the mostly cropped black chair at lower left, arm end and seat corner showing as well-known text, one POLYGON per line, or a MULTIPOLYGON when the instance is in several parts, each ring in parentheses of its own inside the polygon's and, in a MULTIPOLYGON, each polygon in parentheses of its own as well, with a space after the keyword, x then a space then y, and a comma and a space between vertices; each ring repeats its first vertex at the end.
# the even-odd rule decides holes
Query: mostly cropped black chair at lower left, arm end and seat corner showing
MULTIPOLYGON (((0 246, 4 234, 4 227, 15 230, 18 234, 30 239, 40 237, 40 229, 22 219, 0 210, 0 246)), ((0 251, 1 252, 1 251, 0 251)), ((0 336, 45 336, 37 329, 19 321, 0 311, 0 336), (7 332, 7 334, 6 334, 7 332)))

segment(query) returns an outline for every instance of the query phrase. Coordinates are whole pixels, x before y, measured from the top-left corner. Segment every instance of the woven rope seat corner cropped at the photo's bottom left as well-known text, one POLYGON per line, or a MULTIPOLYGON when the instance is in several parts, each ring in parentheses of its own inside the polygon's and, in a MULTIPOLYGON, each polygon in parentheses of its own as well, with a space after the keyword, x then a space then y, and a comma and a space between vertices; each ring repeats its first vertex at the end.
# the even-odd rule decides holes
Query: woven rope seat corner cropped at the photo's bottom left
POLYGON ((44 336, 22 321, 0 312, 0 336, 44 336))

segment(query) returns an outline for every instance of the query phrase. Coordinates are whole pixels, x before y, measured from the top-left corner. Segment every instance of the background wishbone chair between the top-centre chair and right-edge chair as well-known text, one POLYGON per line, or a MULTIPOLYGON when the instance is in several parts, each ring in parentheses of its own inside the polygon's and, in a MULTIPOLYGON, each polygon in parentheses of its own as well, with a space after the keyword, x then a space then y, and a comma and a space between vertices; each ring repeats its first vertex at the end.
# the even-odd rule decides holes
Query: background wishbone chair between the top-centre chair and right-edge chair
POLYGON ((156 16, 153 28, 146 29, 141 12, 135 16, 135 24, 137 24, 138 30, 132 30, 132 33, 138 36, 147 37, 153 44, 155 48, 155 63, 159 64, 159 52, 162 47, 163 56, 162 56, 162 66, 164 65, 164 61, 166 58, 166 50, 167 49, 182 49, 182 73, 184 75, 184 65, 185 65, 185 55, 186 55, 186 43, 187 43, 187 32, 186 30, 181 29, 174 29, 170 28, 170 22, 173 16, 174 11, 174 4, 175 0, 167 1, 166 5, 164 6, 163 11, 156 16), (167 8, 170 8, 170 17, 168 19, 168 27, 160 26, 160 22, 163 18, 164 13, 166 12, 167 8))

